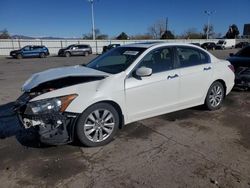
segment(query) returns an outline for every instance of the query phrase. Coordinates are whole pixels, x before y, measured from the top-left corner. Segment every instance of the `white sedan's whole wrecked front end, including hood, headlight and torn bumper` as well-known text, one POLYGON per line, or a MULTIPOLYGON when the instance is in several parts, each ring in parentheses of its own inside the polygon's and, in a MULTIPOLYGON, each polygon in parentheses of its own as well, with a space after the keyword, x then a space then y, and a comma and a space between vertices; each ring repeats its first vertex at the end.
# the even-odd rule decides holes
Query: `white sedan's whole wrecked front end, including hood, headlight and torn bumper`
POLYGON ((68 88, 70 92, 71 86, 100 81, 107 76, 108 73, 79 65, 35 73, 24 83, 24 93, 17 99, 15 111, 24 128, 34 127, 38 130, 41 142, 52 145, 71 142, 79 114, 67 112, 66 109, 77 94, 65 96, 63 89, 68 88), (57 92, 53 98, 36 100, 40 95, 60 89, 62 96, 57 96, 60 93, 57 92))

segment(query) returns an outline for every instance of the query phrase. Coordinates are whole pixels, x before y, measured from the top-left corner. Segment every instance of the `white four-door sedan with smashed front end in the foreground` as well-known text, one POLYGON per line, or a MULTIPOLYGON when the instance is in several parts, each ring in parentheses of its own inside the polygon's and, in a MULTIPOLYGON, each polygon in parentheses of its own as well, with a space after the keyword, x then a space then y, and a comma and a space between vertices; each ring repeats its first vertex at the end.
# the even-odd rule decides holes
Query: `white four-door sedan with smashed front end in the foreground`
POLYGON ((16 112, 48 144, 109 143, 123 125, 205 105, 221 107, 234 85, 232 65, 189 44, 141 43, 114 48, 87 65, 36 73, 23 85, 16 112))

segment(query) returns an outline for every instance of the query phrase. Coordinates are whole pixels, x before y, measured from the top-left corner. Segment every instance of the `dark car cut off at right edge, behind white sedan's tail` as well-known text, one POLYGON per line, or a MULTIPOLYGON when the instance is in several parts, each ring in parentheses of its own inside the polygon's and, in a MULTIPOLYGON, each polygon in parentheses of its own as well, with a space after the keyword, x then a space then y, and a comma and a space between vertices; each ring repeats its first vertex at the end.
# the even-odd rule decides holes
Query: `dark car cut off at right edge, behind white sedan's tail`
POLYGON ((235 86, 250 88, 250 46, 242 48, 236 54, 230 54, 227 60, 235 68, 235 86))

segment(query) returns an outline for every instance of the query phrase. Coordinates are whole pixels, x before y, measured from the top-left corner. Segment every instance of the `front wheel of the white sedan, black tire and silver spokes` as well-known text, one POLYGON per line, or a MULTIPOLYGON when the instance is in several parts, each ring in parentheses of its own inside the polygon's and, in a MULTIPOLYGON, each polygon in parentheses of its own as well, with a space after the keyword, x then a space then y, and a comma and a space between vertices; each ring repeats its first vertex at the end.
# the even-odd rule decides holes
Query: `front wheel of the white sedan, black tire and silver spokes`
POLYGON ((76 134, 82 144, 96 147, 112 141, 119 127, 119 114, 108 103, 97 103, 87 108, 76 124, 76 134))

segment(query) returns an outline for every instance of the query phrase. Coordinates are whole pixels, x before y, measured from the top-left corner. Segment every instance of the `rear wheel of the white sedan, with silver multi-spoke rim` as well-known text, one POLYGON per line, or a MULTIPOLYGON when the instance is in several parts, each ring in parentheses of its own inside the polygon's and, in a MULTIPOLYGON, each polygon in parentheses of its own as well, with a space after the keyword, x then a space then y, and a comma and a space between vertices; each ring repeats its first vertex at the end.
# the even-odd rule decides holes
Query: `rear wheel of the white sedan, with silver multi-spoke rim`
POLYGON ((221 107, 225 96, 225 89, 223 85, 216 81, 208 89, 205 99, 205 106, 208 110, 217 110, 221 107))

